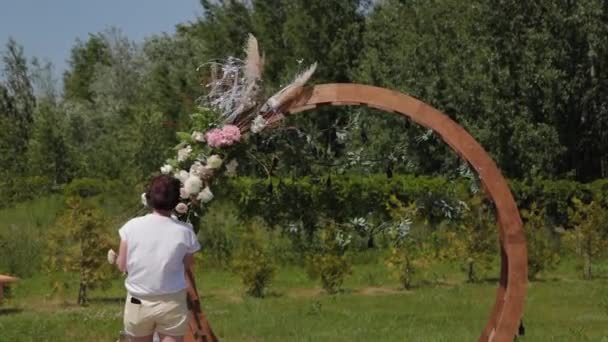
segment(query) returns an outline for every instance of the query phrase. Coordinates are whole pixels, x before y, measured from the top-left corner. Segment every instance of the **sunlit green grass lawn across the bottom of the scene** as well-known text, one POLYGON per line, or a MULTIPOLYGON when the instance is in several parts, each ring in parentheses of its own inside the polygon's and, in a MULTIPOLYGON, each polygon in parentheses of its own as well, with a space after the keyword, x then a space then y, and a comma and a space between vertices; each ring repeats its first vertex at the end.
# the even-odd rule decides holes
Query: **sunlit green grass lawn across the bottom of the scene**
MULTIPOLYGON (((583 281, 572 263, 529 286, 519 341, 608 341, 608 280, 583 281)), ((264 299, 244 297, 222 270, 199 271, 204 310, 223 341, 473 341, 485 324, 495 282, 466 284, 446 267, 441 285, 400 291, 382 265, 361 265, 330 296, 295 267, 283 268, 264 299)), ((76 287, 49 298, 43 276, 24 279, 0 307, 3 341, 114 341, 121 329, 120 279, 74 305, 76 287), (67 298, 67 297, 66 297, 67 298)))

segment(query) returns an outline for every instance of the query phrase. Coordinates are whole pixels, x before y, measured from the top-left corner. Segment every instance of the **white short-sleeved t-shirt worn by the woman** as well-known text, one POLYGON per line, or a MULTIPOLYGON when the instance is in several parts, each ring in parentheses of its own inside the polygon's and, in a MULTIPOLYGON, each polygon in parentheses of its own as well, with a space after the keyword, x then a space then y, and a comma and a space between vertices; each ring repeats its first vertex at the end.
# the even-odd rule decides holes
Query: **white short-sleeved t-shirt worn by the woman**
POLYGON ((201 248, 190 225, 148 214, 125 223, 118 234, 127 242, 125 287, 131 295, 162 295, 188 287, 184 256, 201 248))

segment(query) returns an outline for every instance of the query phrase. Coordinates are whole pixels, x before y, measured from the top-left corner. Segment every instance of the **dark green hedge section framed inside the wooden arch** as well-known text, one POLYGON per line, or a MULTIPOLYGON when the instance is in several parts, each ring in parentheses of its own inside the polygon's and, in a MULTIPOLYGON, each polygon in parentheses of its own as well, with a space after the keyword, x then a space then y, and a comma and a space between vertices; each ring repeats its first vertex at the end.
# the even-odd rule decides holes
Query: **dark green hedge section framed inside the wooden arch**
POLYGON ((466 198, 458 183, 444 178, 388 178, 378 174, 299 179, 239 177, 228 180, 222 193, 239 201, 243 217, 259 215, 270 225, 302 222, 309 236, 320 217, 346 223, 373 213, 378 222, 386 221, 390 215, 385 203, 391 196, 402 202, 418 203, 422 215, 433 223, 447 215, 457 215, 458 200, 466 198))

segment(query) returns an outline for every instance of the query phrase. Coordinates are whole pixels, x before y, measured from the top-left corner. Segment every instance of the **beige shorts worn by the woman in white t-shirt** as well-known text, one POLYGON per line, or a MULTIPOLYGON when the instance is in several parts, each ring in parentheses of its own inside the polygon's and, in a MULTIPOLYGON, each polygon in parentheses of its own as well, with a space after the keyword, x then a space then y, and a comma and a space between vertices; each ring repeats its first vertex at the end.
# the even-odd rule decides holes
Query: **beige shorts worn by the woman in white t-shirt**
POLYGON ((143 337, 158 332, 169 336, 183 336, 188 329, 188 304, 186 290, 158 296, 135 297, 141 304, 133 303, 127 294, 125 303, 125 332, 133 337, 143 337))

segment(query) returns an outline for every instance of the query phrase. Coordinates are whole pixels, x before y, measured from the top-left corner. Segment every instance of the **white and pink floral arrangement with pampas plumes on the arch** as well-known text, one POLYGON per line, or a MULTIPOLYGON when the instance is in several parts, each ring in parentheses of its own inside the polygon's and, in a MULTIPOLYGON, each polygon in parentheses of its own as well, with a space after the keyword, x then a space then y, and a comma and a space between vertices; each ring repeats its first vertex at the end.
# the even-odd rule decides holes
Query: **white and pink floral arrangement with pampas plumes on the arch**
MULTIPOLYGON (((198 220, 205 204, 213 199, 212 179, 220 173, 236 175, 234 152, 238 145, 283 119, 283 109, 301 93, 316 70, 315 63, 265 99, 261 87, 264 57, 253 35, 249 35, 245 52, 245 60, 228 57, 199 67, 210 69, 210 81, 205 85, 208 92, 201 98, 203 106, 200 113, 192 115, 193 131, 178 132, 176 157, 160 168, 162 174, 173 175, 182 185, 175 212, 183 221, 198 220)), ((146 205, 143 195, 142 203, 146 205)))

